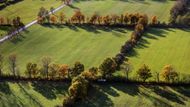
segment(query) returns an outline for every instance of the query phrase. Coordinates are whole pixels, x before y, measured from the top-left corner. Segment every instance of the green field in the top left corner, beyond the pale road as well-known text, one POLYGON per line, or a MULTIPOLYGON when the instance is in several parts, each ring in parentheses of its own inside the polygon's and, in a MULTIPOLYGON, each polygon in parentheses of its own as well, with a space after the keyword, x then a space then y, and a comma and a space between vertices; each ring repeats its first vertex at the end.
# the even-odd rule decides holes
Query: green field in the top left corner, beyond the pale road
POLYGON ((22 2, 10 5, 0 11, 0 16, 14 18, 20 16, 24 23, 29 23, 36 19, 40 7, 50 9, 58 7, 61 2, 56 0, 23 0, 22 2))

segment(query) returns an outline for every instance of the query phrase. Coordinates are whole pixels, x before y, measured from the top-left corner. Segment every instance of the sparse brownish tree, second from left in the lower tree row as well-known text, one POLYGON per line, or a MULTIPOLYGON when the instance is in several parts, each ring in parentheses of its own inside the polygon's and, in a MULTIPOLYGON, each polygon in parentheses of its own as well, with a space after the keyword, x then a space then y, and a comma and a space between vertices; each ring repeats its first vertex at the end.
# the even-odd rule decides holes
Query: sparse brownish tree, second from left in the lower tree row
POLYGON ((13 76, 16 77, 18 74, 18 68, 17 68, 17 56, 16 54, 9 55, 9 68, 10 71, 13 73, 13 76))

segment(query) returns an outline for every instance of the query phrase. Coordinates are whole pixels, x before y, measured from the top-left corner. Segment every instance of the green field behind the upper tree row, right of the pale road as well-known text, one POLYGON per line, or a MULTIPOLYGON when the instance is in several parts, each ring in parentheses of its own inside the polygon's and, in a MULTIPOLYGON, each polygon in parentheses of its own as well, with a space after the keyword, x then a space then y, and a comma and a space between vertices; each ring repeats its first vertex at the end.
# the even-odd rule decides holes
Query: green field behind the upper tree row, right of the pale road
MULTIPOLYGON (((167 22, 173 4, 174 1, 169 0, 162 2, 153 0, 90 0, 75 2, 74 6, 81 9, 86 15, 92 15, 94 12, 102 15, 142 12, 148 14, 149 17, 156 15, 159 20, 167 22)), ((67 16, 73 14, 73 10, 69 7, 64 8, 63 11, 67 16)))

